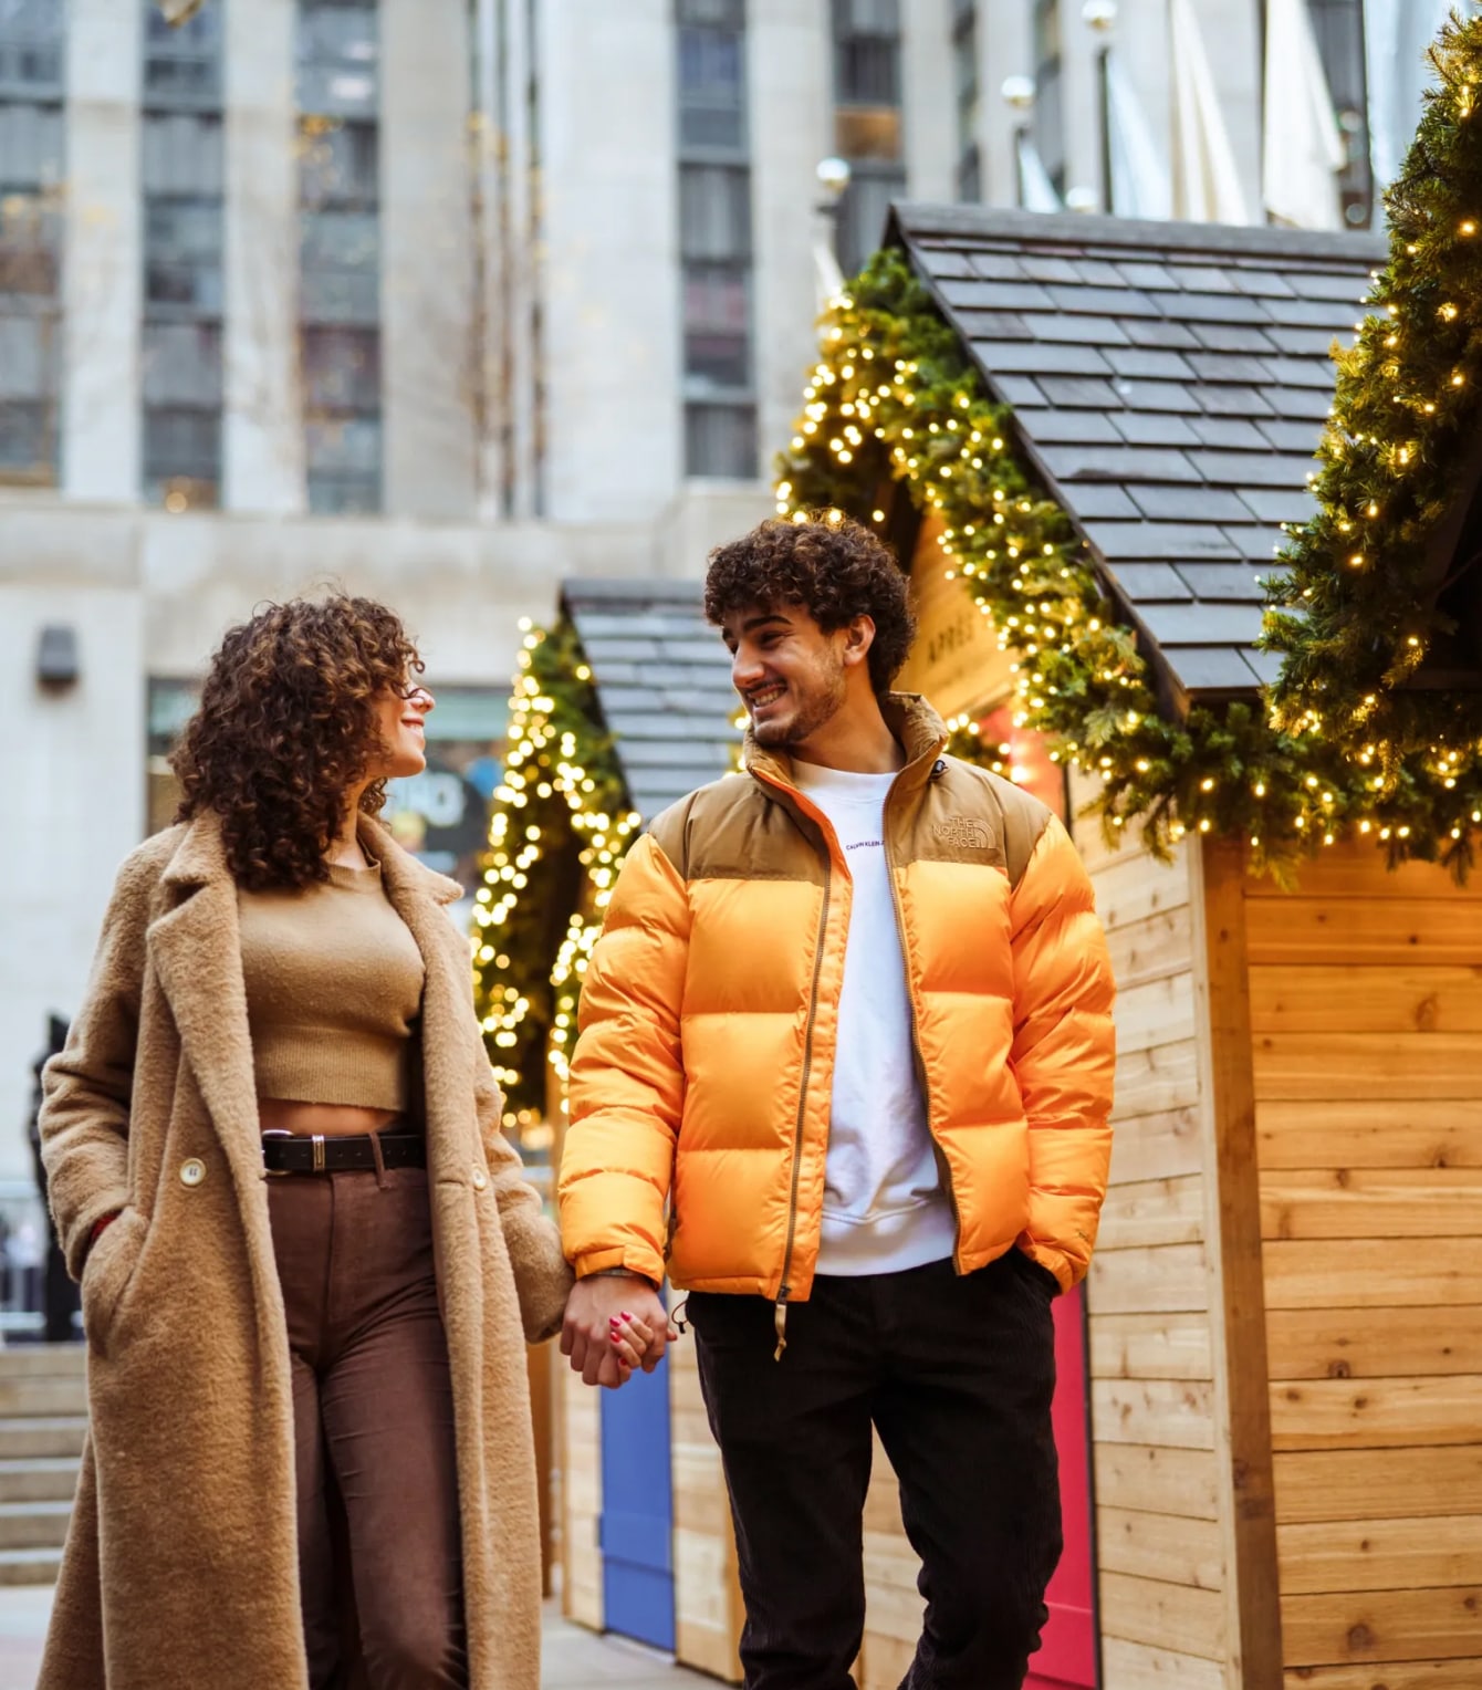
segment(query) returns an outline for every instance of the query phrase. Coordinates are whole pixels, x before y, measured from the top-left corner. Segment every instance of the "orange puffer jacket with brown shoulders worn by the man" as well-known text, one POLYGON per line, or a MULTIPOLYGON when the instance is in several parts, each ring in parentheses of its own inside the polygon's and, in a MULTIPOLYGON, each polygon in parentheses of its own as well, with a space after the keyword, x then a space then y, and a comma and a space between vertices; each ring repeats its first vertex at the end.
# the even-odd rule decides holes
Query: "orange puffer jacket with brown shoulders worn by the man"
MULTIPOLYGON (((1012 1246, 1061 1286, 1107 1186, 1112 970, 1054 815, 943 757, 891 695, 907 764, 885 852, 958 1273, 1012 1246)), ((576 1273, 808 1296, 823 1222, 850 872, 784 759, 728 776, 629 852, 586 970, 561 1156, 576 1273), (666 1203, 669 1225, 666 1239, 666 1203)))

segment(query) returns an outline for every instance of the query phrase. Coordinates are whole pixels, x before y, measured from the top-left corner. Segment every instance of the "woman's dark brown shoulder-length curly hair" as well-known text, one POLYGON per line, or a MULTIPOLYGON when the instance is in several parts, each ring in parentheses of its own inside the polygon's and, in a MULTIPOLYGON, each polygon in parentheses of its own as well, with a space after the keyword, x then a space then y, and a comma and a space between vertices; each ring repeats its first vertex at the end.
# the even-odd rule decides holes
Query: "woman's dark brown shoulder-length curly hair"
MULTIPOLYGON (((221 818, 226 862, 248 891, 328 880, 345 798, 382 750, 375 700, 406 691, 422 659, 373 598, 292 598, 226 632, 201 705, 171 757, 176 821, 221 818)), ((375 815, 385 782, 360 808, 375 815)))

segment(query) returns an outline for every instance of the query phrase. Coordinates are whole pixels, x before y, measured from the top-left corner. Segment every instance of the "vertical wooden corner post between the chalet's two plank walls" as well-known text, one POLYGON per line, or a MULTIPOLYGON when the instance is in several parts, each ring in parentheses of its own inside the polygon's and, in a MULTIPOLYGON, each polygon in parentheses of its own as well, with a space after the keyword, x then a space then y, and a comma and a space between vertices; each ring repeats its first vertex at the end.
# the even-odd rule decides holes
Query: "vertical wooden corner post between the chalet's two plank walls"
POLYGON ((1281 1690, 1281 1589, 1245 955, 1245 847, 1190 848, 1229 1690, 1281 1690))

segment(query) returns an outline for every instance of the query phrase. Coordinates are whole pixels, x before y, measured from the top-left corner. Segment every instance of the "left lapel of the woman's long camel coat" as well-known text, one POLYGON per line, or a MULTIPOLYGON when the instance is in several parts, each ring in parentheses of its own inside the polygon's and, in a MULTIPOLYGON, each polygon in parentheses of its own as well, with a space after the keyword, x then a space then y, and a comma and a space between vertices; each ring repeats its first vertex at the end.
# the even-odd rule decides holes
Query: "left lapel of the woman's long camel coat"
POLYGON ((242 984, 237 882, 215 815, 203 811, 191 821, 162 884, 174 902, 150 923, 149 958, 247 1205, 260 1198, 262 1188, 257 1085, 242 984))

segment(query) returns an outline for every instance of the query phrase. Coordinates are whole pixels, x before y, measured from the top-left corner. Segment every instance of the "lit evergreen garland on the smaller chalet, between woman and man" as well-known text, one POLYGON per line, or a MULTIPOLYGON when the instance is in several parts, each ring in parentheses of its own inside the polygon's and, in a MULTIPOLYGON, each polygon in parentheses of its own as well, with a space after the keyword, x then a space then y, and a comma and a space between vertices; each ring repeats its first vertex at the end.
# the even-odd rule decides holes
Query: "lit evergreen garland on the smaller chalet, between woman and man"
POLYGON ((576 630, 522 629, 473 906, 473 999, 507 1127, 544 1119, 548 1068, 564 1080, 586 957, 639 826, 576 630))

